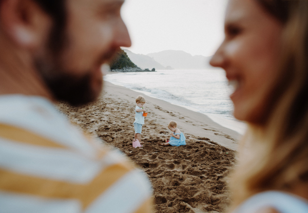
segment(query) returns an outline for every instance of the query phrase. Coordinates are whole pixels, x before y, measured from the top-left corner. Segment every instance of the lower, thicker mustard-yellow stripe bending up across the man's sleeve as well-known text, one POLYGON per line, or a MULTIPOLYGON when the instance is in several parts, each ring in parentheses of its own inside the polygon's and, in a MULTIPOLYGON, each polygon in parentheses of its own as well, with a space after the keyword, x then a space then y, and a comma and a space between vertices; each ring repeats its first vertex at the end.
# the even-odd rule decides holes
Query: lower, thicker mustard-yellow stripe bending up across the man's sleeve
POLYGON ((112 165, 89 184, 81 185, 26 176, 0 169, 0 190, 52 199, 77 199, 82 203, 83 208, 86 208, 128 171, 128 168, 123 168, 121 165, 112 165))

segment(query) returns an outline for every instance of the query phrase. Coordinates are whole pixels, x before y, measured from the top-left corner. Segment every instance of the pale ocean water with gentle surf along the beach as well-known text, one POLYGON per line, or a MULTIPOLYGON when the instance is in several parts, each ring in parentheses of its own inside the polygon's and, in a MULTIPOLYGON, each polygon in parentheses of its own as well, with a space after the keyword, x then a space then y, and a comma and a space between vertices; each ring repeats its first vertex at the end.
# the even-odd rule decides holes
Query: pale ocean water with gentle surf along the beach
POLYGON ((233 117, 232 90, 222 69, 122 72, 108 74, 104 80, 204 113, 241 134, 245 131, 245 124, 233 117))

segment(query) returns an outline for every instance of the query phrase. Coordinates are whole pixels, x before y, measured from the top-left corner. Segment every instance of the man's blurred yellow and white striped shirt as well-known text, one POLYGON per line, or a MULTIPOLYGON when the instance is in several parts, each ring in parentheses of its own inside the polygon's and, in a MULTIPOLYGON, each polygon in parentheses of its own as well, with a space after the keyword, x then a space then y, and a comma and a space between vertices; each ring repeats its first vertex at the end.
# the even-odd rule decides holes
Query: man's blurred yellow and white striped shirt
POLYGON ((150 212, 145 174, 46 99, 0 96, 0 212, 150 212))

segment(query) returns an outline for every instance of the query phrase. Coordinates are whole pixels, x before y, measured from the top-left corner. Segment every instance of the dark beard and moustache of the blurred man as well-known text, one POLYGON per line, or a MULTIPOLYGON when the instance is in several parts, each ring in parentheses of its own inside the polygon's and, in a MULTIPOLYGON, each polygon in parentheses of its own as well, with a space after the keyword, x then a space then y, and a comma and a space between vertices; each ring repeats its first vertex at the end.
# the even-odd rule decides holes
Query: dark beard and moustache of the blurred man
MULTIPOLYGON (((51 38, 49 42, 52 41, 55 41, 55 38, 51 38)), ((35 59, 37 71, 56 100, 67 102, 72 106, 95 101, 102 90, 103 79, 93 80, 90 70, 83 72, 86 73, 83 76, 76 76, 75 72, 65 70, 61 63, 62 52, 65 48, 68 47, 62 45, 61 49, 58 50, 46 48, 46 54, 35 59), (93 81, 100 84, 99 91, 94 91, 92 88, 93 81)), ((118 48, 110 48, 97 60, 98 66, 102 62, 110 60, 117 51, 118 48)))

